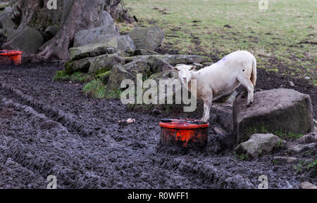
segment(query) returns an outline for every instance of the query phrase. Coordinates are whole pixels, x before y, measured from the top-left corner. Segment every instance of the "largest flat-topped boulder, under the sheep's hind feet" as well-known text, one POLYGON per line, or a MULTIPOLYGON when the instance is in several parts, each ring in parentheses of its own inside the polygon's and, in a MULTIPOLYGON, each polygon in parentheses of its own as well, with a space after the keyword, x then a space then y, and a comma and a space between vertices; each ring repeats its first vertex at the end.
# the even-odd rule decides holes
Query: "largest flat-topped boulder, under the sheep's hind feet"
POLYGON ((247 107, 247 98, 239 96, 232 110, 237 141, 248 140, 256 132, 310 133, 312 109, 310 96, 292 89, 256 92, 251 107, 247 107))

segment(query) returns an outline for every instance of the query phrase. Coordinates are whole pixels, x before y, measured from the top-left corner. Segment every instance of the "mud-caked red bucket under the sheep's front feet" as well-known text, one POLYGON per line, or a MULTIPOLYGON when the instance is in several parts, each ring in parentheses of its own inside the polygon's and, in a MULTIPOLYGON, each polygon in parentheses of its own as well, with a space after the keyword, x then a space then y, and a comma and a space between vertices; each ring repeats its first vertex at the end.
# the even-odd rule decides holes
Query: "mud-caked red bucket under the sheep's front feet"
POLYGON ((209 124, 201 124, 200 121, 191 119, 163 119, 159 125, 163 145, 192 148, 204 147, 207 143, 209 124))

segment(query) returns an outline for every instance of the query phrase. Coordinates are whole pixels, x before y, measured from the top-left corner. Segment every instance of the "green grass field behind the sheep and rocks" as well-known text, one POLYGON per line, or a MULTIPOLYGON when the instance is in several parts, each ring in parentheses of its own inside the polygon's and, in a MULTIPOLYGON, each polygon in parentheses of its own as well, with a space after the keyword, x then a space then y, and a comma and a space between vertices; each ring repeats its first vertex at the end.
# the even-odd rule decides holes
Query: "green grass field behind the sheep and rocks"
POLYGON ((258 67, 317 85, 317 1, 124 0, 139 22, 118 23, 120 32, 158 25, 163 50, 206 55, 216 61, 237 50, 254 53, 258 67))

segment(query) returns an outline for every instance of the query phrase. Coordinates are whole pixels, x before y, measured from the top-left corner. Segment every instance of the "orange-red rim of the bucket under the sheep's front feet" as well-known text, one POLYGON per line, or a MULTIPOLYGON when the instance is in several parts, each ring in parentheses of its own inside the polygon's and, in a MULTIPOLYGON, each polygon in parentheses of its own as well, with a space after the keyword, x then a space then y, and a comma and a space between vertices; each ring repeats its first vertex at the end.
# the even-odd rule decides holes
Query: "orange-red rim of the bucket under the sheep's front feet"
POLYGON ((200 122, 194 119, 172 119, 172 122, 160 122, 159 126, 167 129, 204 129, 208 128, 209 124, 190 124, 188 122, 200 122))

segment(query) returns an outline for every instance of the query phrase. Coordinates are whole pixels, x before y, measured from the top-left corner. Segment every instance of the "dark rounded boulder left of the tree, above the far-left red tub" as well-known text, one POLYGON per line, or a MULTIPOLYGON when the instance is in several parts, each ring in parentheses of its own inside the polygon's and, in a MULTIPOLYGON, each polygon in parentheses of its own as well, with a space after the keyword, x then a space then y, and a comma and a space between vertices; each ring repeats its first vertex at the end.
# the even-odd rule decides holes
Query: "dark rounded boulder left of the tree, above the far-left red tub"
POLYGON ((8 40, 3 45, 4 49, 23 51, 22 56, 27 56, 38 51, 39 47, 43 44, 44 38, 37 30, 27 26, 19 32, 14 32, 8 37, 8 40))

